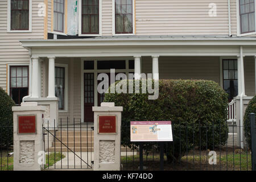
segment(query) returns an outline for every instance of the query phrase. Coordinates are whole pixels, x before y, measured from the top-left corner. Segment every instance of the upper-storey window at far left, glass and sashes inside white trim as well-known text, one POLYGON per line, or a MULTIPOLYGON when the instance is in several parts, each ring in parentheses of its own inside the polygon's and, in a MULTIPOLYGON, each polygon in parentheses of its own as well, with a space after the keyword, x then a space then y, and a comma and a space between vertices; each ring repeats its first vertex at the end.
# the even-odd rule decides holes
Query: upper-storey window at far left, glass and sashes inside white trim
POLYGON ((10 30, 29 30, 30 2, 29 0, 10 0, 11 12, 10 30))

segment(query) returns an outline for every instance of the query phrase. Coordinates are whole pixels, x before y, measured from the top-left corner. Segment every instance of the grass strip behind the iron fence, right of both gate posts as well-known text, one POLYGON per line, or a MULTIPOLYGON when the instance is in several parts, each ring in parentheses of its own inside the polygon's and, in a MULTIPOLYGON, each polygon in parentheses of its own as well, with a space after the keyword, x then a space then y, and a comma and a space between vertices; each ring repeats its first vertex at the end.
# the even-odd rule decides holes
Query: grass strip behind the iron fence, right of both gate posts
MULTIPOLYGON (((164 156, 164 170, 209 170, 209 171, 247 171, 251 170, 251 155, 250 152, 241 152, 240 154, 233 154, 233 152, 220 153, 217 152, 217 164, 210 165, 208 163, 209 156, 206 155, 207 152, 202 152, 201 158, 197 153, 195 155, 189 154, 188 157, 183 156, 180 163, 168 164, 166 156, 164 156)), ((147 170, 159 170, 159 154, 154 155, 154 160, 152 155, 143 155, 143 166, 147 167, 147 170)), ((139 167, 139 155, 134 156, 122 156, 121 163, 123 164, 123 170, 138 170, 139 167)))

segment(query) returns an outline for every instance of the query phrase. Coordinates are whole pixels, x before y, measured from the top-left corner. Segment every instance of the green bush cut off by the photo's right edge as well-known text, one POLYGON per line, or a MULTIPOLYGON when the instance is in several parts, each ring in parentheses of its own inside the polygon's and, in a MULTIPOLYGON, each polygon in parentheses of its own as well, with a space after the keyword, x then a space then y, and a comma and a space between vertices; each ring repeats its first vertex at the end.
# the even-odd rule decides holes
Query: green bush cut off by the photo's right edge
POLYGON ((245 138, 249 148, 251 148, 251 123, 250 123, 250 117, 249 117, 250 113, 256 114, 256 96, 254 96, 253 99, 250 100, 248 106, 246 107, 245 115, 243 117, 243 122, 245 126, 244 127, 245 138))

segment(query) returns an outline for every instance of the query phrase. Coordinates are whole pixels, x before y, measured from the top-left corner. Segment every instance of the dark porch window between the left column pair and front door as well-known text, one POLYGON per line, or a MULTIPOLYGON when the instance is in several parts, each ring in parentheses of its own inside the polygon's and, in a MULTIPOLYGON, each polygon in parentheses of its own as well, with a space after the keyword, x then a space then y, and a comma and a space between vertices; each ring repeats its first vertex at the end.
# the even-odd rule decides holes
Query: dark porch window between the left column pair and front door
POLYGON ((59 110, 64 110, 65 68, 63 67, 55 67, 55 96, 59 97, 59 110))

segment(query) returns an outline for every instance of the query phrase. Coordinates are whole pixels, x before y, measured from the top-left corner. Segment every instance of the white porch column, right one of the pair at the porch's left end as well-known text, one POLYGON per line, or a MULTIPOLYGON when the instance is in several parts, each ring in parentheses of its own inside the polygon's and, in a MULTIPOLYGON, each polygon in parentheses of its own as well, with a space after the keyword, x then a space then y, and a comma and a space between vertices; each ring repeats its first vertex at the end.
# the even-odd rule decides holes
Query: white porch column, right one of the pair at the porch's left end
POLYGON ((48 57, 48 97, 55 97, 55 57, 48 57))

